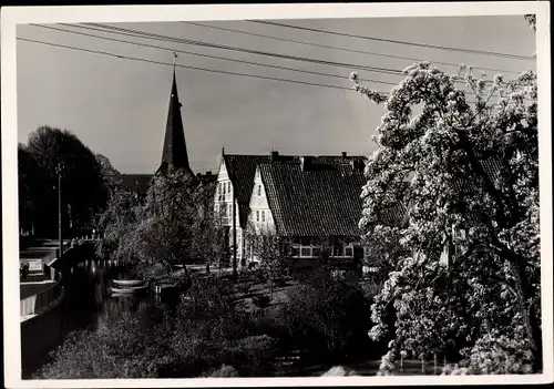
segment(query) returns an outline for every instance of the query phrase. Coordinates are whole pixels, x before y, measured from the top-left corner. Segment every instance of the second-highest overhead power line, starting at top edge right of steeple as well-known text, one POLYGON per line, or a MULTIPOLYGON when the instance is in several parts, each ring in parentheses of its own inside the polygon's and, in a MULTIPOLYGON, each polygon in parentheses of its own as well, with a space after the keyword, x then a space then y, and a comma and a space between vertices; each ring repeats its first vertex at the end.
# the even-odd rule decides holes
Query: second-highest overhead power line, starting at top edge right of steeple
MULTIPOLYGON (((239 33, 239 34, 244 34, 244 35, 252 35, 252 37, 258 37, 258 38, 273 39, 273 40, 283 41, 283 42, 290 42, 290 43, 298 43, 298 44, 304 44, 304 45, 310 45, 310 47, 314 47, 314 48, 332 49, 332 50, 339 50, 339 51, 343 51, 343 52, 351 52, 351 53, 367 54, 367 55, 376 55, 376 57, 384 57, 384 58, 393 58, 393 59, 407 60, 407 61, 417 61, 417 62, 424 61, 423 59, 419 59, 419 58, 393 55, 393 54, 383 54, 383 53, 377 53, 377 52, 367 51, 367 50, 346 49, 346 48, 339 48, 339 47, 329 45, 329 44, 304 42, 304 41, 298 41, 298 40, 295 40, 295 39, 287 39, 287 38, 280 38, 280 37, 274 37, 274 35, 265 35, 265 34, 260 34, 260 33, 248 32, 248 31, 243 31, 243 30, 238 30, 238 29, 229 29, 229 28, 224 28, 224 27, 216 27, 216 25, 204 24, 204 23, 198 23, 198 22, 182 21, 182 23, 189 24, 189 25, 204 27, 204 28, 214 29, 214 30, 234 32, 234 33, 239 33)), ((445 65, 445 66, 453 66, 453 68, 459 68, 460 66, 459 63, 452 63, 452 62, 432 61, 432 63, 437 63, 437 64, 441 64, 441 65, 445 65)), ((520 72, 515 72, 515 71, 512 71, 512 70, 492 69, 492 68, 483 68, 483 66, 475 66, 475 69, 486 70, 486 71, 491 71, 491 72, 502 72, 502 73, 520 74, 520 72)))

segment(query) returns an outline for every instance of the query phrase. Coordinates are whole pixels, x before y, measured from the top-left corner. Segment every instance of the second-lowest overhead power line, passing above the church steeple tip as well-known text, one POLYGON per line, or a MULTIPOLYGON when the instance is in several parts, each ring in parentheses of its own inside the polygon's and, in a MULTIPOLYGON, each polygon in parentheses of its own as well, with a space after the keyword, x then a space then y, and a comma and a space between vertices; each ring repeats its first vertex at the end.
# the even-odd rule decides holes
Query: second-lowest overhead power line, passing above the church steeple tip
MULTIPOLYGON (((86 33, 86 32, 72 31, 72 30, 61 29, 61 28, 51 27, 51 25, 44 25, 44 24, 34 24, 34 23, 31 23, 30 25, 39 27, 39 28, 43 28, 43 29, 49 29, 49 30, 55 30, 55 31, 65 32, 65 33, 73 33, 73 34, 78 34, 78 35, 84 35, 84 37, 91 37, 91 38, 102 39, 102 40, 106 40, 106 41, 113 41, 113 42, 133 44, 133 45, 138 45, 138 47, 144 47, 144 48, 151 48, 151 49, 158 49, 158 50, 165 50, 165 51, 171 51, 171 52, 178 52, 178 53, 184 53, 184 54, 189 54, 189 55, 197 55, 197 57, 211 58, 211 59, 216 59, 216 60, 220 60, 220 61, 232 61, 232 62, 245 63, 245 64, 250 64, 250 65, 256 65, 256 66, 263 66, 263 68, 279 69, 279 70, 287 70, 287 71, 306 73, 306 74, 324 75, 324 76, 331 76, 331 78, 341 79, 341 80, 349 80, 349 78, 345 76, 345 75, 338 75, 338 74, 331 74, 331 73, 324 73, 324 72, 316 72, 316 71, 301 70, 301 69, 294 69, 294 68, 287 68, 287 66, 278 66, 278 65, 273 65, 273 64, 267 64, 267 63, 259 63, 259 62, 252 62, 252 61, 245 61, 245 60, 237 60, 237 59, 233 59, 233 58, 225 58, 225 57, 203 54, 203 53, 197 53, 197 52, 194 52, 194 51, 178 50, 178 49, 172 49, 172 48, 167 48, 167 47, 161 47, 161 45, 154 45, 154 44, 147 44, 147 43, 125 41, 125 40, 121 40, 121 39, 116 39, 116 38, 100 37, 100 35, 94 35, 94 34, 86 33)), ((362 78, 360 78, 360 81, 373 82, 373 83, 380 83, 380 84, 387 84, 387 85, 397 85, 398 84, 396 82, 388 82, 388 81, 380 81, 380 80, 372 80, 372 79, 362 79, 362 78)))

